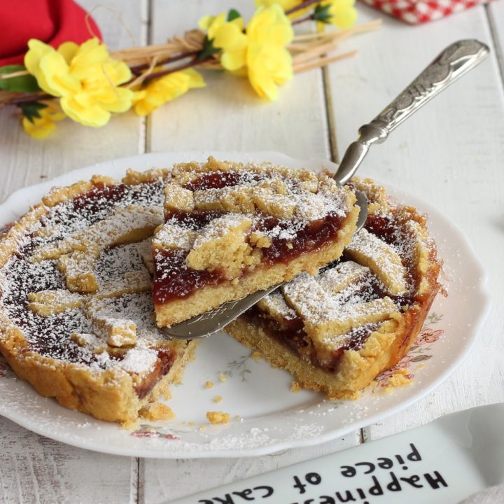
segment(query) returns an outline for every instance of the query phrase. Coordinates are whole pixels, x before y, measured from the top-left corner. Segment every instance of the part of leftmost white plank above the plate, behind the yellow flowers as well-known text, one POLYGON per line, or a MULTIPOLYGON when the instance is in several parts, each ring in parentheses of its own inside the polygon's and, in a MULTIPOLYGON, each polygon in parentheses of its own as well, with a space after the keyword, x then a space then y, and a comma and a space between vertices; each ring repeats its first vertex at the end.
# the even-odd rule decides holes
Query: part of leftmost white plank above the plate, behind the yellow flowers
MULTIPOLYGON (((100 2, 101 6, 94 10, 94 17, 102 29, 104 41, 111 50, 144 42, 146 1, 142 0, 130 6, 120 0, 104 0, 100 2), (133 40, 123 23, 128 27, 133 40)), ((97 5, 94 0, 83 0, 80 3, 85 8, 97 5)), ((0 201, 5 200, 14 190, 38 183, 41 179, 52 179, 71 169, 94 162, 143 152, 141 122, 133 112, 112 118, 109 125, 103 129, 86 127, 66 119, 59 123, 52 137, 35 140, 22 131, 15 107, 2 109, 0 201)))

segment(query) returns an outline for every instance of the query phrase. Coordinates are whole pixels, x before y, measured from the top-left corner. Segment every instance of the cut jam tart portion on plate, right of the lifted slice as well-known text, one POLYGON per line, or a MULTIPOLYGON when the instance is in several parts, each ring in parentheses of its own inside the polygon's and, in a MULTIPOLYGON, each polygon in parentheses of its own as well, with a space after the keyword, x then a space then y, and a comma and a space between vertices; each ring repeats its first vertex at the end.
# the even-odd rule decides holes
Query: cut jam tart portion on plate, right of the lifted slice
POLYGON ((297 276, 225 328, 329 398, 355 398, 397 363, 440 288, 425 216, 393 204, 372 181, 352 184, 367 193, 368 217, 341 260, 297 276))

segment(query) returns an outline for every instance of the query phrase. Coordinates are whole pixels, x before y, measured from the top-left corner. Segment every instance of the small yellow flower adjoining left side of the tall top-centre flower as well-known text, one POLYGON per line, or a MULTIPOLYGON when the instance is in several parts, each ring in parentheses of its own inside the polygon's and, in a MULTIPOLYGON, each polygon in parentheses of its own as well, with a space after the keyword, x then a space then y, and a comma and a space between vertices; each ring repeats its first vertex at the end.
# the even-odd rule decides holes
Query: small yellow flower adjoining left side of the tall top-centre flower
POLYGON ((246 35, 243 32, 242 18, 226 21, 225 13, 217 16, 204 16, 199 22, 200 28, 207 30, 214 48, 222 49, 221 64, 226 70, 235 71, 245 66, 246 35))

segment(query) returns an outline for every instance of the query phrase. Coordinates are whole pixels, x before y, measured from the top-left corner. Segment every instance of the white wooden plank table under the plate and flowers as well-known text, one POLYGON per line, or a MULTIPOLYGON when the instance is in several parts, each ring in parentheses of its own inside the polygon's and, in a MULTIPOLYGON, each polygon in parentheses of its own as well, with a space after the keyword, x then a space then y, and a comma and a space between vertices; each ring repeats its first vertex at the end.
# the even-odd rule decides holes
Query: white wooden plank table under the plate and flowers
MULTIPOLYGON (((92 8, 96 0, 80 0, 92 8)), ((101 0, 94 12, 109 48, 160 43, 228 7, 249 15, 252 0, 101 0), (113 10, 107 10, 110 8, 113 10), (118 20, 130 29, 127 33, 118 20), (134 36, 132 40, 131 36, 134 36)), ((322 446, 256 458, 153 460, 109 456, 49 440, 0 418, 0 503, 164 503, 297 461, 397 433, 437 416, 504 401, 504 1, 409 27, 359 5, 379 32, 351 38, 353 59, 296 76, 274 104, 245 82, 207 76, 147 120, 133 113, 103 130, 69 121, 48 141, 0 113, 0 200, 11 192, 94 162, 160 151, 283 151, 337 161, 370 120, 440 50, 478 38, 491 57, 373 148, 361 173, 436 204, 468 235, 489 272, 493 307, 474 351, 426 398, 383 423, 322 446)), ((1 400, 1 399, 0 399, 1 400)))

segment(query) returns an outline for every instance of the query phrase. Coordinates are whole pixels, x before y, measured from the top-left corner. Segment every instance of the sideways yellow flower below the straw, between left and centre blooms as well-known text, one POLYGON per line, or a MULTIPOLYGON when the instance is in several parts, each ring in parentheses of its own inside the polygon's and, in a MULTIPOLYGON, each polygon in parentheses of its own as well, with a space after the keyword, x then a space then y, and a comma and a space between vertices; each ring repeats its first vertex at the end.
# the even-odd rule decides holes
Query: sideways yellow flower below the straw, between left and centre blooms
POLYGON ((134 93, 134 111, 139 116, 146 116, 159 106, 164 105, 193 87, 204 87, 205 83, 197 71, 186 69, 169 73, 151 80, 148 86, 134 93))

